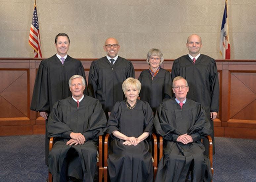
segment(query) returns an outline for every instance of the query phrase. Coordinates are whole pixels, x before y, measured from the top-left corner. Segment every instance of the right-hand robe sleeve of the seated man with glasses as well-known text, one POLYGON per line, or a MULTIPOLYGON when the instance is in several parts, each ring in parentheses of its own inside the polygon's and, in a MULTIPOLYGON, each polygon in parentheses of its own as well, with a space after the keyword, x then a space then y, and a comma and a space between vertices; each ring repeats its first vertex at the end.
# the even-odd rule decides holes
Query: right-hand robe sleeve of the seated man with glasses
POLYGON ((210 135, 212 133, 212 130, 210 129, 210 122, 208 120, 208 117, 206 117, 205 110, 203 106, 198 104, 196 109, 196 118, 195 123, 193 126, 189 129, 189 135, 192 137, 193 142, 196 142, 197 140, 210 135))

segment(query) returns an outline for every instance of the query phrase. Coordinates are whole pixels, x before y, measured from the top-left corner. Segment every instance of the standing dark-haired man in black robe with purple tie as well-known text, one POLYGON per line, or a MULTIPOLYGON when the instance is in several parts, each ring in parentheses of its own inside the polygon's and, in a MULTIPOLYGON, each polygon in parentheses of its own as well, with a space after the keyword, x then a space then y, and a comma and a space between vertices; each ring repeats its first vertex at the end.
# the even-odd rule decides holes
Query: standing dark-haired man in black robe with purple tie
MULTIPOLYGON (((81 61, 67 55, 69 48, 69 37, 65 33, 59 33, 55 37, 57 54, 42 60, 35 79, 34 91, 30 109, 39 111, 45 119, 50 114, 53 104, 71 95, 68 86, 68 79, 73 75, 81 75, 85 78, 84 68, 81 61), (62 60, 64 58, 64 63, 62 60)), ((84 91, 88 95, 87 85, 84 91)), ((48 165, 49 138, 47 128, 45 132, 45 162, 48 165)))

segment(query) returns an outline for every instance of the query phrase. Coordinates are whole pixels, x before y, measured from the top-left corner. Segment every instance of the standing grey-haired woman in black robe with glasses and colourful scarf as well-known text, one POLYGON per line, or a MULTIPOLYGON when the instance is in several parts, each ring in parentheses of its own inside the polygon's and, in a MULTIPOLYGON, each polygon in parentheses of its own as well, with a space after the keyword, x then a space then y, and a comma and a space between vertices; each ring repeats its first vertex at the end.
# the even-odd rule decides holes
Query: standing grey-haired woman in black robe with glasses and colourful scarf
POLYGON ((150 49, 146 61, 150 67, 142 71, 138 78, 142 85, 140 99, 148 102, 155 112, 164 99, 171 98, 171 74, 160 66, 164 58, 159 49, 150 49))

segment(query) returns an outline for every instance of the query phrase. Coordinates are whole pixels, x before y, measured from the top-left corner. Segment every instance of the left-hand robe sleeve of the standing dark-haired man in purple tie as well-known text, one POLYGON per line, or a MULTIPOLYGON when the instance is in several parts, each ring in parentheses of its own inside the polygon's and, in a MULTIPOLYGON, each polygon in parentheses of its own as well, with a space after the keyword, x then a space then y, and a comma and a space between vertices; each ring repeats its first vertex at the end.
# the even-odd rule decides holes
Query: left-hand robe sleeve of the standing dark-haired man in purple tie
POLYGON ((30 109, 35 111, 50 111, 48 96, 48 68, 41 61, 36 74, 30 109))

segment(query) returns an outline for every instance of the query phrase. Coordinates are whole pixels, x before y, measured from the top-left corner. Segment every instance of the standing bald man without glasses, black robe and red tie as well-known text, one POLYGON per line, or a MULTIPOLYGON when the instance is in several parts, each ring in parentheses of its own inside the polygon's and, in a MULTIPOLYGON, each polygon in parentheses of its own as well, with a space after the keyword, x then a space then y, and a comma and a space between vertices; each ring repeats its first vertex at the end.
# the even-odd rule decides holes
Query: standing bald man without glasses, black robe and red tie
MULTIPOLYGON (((213 120, 219 111, 219 79, 216 62, 213 58, 200 54, 202 47, 201 37, 192 34, 186 44, 189 54, 179 57, 172 65, 172 79, 183 76, 189 83, 190 91, 187 98, 200 103, 211 123, 211 137, 214 145, 213 120), (193 62, 193 59, 195 62, 193 62)), ((204 140, 207 143, 207 140, 204 140)), ((208 154, 208 148, 206 148, 208 154)))

